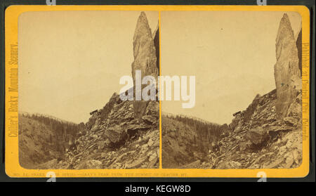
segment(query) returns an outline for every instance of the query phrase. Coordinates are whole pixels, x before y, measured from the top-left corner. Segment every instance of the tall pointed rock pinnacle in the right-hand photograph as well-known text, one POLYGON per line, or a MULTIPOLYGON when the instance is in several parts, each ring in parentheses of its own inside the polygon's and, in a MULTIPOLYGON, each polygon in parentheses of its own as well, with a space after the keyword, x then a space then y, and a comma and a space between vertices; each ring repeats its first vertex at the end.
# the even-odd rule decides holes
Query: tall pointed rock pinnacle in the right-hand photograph
POLYGON ((284 13, 279 22, 276 39, 275 86, 277 87, 277 118, 283 119, 287 110, 301 89, 301 77, 298 67, 298 49, 289 16, 284 13))

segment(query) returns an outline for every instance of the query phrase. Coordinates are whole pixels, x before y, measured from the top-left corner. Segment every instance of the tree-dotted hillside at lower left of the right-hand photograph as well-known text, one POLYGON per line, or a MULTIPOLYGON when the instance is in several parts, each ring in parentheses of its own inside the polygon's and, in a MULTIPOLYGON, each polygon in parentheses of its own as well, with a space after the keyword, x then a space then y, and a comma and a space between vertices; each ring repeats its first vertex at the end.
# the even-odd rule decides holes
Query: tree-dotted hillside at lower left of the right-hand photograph
POLYGON ((197 159, 205 161, 212 144, 227 131, 227 124, 220 126, 195 117, 163 113, 162 166, 176 168, 197 159))

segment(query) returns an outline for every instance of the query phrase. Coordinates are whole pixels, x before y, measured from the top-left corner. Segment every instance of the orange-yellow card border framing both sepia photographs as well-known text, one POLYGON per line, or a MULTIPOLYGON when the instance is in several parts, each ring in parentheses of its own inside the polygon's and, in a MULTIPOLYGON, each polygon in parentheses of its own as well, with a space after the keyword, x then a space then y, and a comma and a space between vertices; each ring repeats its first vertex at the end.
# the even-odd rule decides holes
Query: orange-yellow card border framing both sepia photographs
MULTIPOLYGON (((302 17, 302 44, 307 44, 308 54, 310 49, 310 12, 306 6, 9 6, 5 11, 5 83, 10 83, 8 77, 8 67, 10 59, 10 44, 18 43, 18 18, 20 14, 29 11, 296 11, 302 17)), ((10 177, 45 178, 48 171, 53 171, 57 178, 69 177, 175 177, 175 178, 196 178, 196 177, 229 177, 229 178, 258 178, 259 171, 264 171, 268 178, 302 178, 309 172, 309 143, 310 143, 310 55, 305 60, 303 67, 303 81, 307 81, 308 89, 306 96, 303 96, 303 103, 308 105, 307 110, 303 110, 303 129, 307 130, 303 134, 303 161, 301 166, 295 169, 162 169, 162 127, 161 110, 159 112, 160 130, 160 156, 159 169, 24 169, 18 162, 18 137, 8 136, 8 127, 5 126, 5 168, 6 174, 10 177), (304 122, 304 121, 303 121, 304 122), (133 174, 133 176, 131 176, 133 174)), ((161 62, 161 60, 160 60, 161 62)), ((161 70, 161 69, 160 69, 161 70)), ((5 125, 10 117, 14 115, 8 112, 8 98, 18 96, 18 93, 9 92, 8 85, 5 86, 5 125)), ((159 103, 161 109, 161 103, 159 103)))

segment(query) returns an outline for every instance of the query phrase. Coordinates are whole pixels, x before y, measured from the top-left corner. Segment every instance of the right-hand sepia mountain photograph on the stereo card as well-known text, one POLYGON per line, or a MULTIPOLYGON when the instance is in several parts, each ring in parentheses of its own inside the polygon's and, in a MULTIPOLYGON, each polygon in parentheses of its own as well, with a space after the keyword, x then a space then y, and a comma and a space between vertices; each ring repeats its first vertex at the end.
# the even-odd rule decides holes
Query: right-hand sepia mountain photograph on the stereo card
POLYGON ((300 14, 162 11, 161 48, 162 168, 301 165, 300 14))

